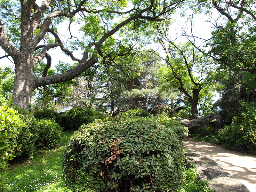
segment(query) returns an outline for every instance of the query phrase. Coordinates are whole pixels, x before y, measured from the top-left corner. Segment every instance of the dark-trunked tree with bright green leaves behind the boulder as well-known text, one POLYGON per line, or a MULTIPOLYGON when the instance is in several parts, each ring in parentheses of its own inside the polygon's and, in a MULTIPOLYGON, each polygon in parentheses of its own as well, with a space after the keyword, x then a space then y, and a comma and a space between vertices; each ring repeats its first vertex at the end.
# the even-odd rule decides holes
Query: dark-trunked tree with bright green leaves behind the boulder
MULTIPOLYGON (((168 40, 168 39, 166 39, 168 40)), ((162 42, 163 43, 163 42, 162 42)), ((205 100, 203 93, 214 92, 214 68, 212 60, 205 57, 192 44, 174 44, 169 41, 166 51, 168 66, 161 68, 162 88, 183 94, 183 101, 191 105, 192 119, 199 117, 198 101, 205 100), (201 93, 201 94, 200 94, 201 93)), ((164 45, 164 44, 163 44, 164 45)), ((207 94, 207 98, 213 94, 207 94)))

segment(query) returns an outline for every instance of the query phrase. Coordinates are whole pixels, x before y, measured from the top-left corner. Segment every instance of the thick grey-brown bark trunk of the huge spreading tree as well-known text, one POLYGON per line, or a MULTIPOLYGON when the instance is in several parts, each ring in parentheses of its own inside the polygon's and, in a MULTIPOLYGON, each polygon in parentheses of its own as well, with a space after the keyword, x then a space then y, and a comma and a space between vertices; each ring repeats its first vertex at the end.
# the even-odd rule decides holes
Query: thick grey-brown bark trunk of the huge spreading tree
POLYGON ((15 78, 13 88, 14 105, 28 109, 32 94, 36 89, 33 74, 33 55, 20 57, 15 62, 15 78))

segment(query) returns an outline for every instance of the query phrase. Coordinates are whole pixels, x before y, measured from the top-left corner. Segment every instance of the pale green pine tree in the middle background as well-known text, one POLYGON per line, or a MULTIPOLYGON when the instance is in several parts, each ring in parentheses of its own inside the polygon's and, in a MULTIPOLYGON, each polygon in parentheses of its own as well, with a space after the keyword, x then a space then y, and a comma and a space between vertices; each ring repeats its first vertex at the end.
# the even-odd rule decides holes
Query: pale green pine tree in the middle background
POLYGON ((126 92, 131 108, 143 108, 149 114, 164 108, 167 100, 174 99, 173 92, 159 90, 159 79, 157 77, 159 69, 163 66, 162 60, 153 50, 142 50, 135 57, 134 87, 126 92), (136 103, 136 104, 135 104, 136 103))

